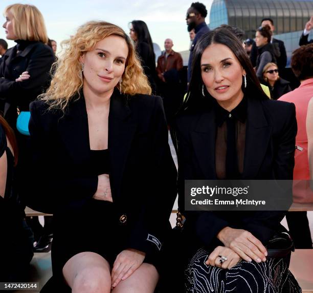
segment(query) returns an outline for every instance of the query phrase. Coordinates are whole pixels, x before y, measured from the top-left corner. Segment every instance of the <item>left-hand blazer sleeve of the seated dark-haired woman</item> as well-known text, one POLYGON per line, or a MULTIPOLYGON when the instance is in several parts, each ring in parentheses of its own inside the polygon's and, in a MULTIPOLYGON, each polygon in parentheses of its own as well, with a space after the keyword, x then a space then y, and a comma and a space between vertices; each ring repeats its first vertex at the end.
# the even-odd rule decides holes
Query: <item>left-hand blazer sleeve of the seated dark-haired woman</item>
MULTIPOLYGON (((179 122, 176 122, 179 123, 179 122)), ((178 126, 178 125, 177 125, 178 126)), ((184 206, 185 201, 185 180, 196 178, 196 171, 192 164, 192 150, 188 140, 180 133, 176 126, 177 136, 177 158, 178 158, 178 206, 184 206)), ((182 125, 181 125, 182 127, 182 125)), ((198 239, 206 246, 209 246, 222 228, 229 226, 229 223, 220 218, 216 213, 206 211, 181 211, 195 228, 198 239)))

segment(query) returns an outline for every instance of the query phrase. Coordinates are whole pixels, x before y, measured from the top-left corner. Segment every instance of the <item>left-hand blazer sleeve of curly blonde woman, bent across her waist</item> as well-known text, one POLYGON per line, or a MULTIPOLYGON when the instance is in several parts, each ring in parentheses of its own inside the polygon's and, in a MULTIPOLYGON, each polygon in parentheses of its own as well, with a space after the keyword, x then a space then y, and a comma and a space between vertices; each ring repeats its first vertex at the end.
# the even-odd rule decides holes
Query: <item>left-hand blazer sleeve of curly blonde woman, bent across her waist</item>
POLYGON ((28 206, 36 211, 53 214, 64 205, 75 205, 92 198, 97 191, 98 177, 74 177, 64 175, 62 165, 59 165, 56 150, 51 147, 55 139, 53 131, 47 127, 48 110, 38 109, 36 102, 30 106, 31 118, 29 132, 31 140, 32 168, 29 178, 30 192, 26 199, 28 206))

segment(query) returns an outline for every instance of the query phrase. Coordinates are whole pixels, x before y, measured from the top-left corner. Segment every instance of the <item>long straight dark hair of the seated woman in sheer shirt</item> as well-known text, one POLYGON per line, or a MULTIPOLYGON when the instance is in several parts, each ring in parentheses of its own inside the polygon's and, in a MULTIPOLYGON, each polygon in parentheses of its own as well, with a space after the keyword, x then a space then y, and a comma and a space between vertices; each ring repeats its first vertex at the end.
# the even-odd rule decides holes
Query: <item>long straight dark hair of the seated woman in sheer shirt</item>
POLYGON ((206 87, 204 87, 205 97, 202 95, 203 80, 201 77, 200 60, 204 50, 211 44, 221 44, 227 46, 237 57, 240 65, 243 67, 247 78, 247 88, 244 88, 242 82, 242 92, 248 98, 268 99, 264 94, 260 82, 252 67, 251 61, 244 51, 239 39, 227 28, 218 28, 203 35, 194 48, 192 68, 191 68, 191 80, 189 89, 183 108, 186 109, 201 109, 204 104, 210 104, 214 98, 208 93, 206 87))

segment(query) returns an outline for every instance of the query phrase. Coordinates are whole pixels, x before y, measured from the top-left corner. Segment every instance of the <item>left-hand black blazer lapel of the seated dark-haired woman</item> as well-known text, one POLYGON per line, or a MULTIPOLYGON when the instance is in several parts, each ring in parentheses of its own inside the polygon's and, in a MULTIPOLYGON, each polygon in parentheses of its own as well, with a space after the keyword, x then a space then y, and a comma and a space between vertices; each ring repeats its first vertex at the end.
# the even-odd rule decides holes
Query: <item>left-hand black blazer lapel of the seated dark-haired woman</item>
POLYGON ((215 128, 215 114, 213 109, 211 109, 199 117, 196 128, 191 133, 193 149, 204 174, 204 178, 196 179, 216 179, 215 128))

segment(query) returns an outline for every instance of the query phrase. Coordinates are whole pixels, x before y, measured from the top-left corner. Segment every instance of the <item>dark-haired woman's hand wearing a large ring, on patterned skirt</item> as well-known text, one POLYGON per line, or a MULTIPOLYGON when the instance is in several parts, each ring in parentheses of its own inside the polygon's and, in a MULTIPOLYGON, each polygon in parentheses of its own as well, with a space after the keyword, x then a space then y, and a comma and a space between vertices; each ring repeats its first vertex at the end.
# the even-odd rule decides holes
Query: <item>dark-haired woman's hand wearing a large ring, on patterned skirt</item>
POLYGON ((234 250, 225 247, 225 246, 217 246, 213 252, 209 255, 208 260, 206 261, 207 265, 217 266, 221 268, 232 268, 242 259, 238 254, 234 252, 234 250), (227 260, 223 263, 220 263, 221 258, 218 256, 226 257, 227 260))

